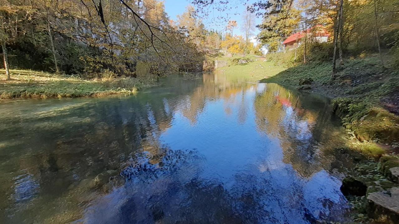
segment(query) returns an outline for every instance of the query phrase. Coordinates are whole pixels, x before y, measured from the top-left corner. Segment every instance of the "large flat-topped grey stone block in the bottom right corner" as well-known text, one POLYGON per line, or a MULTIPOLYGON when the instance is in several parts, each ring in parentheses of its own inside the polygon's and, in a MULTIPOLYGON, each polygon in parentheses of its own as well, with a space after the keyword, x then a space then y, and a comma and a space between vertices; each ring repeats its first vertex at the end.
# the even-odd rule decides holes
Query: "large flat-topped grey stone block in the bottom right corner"
POLYGON ((399 187, 369 193, 367 213, 377 222, 399 223, 399 187))

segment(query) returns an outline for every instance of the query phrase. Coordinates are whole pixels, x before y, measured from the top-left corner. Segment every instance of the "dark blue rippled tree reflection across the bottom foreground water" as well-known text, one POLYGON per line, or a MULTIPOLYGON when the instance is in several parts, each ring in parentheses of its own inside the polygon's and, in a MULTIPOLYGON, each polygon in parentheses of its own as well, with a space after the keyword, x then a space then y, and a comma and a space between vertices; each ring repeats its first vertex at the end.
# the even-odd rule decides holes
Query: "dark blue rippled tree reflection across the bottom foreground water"
POLYGON ((198 151, 163 149, 159 164, 150 163, 151 155, 136 155, 121 173, 126 185, 93 202, 79 221, 300 224, 343 221, 345 216, 344 197, 332 192, 336 186, 311 189, 315 180, 338 184, 326 173, 304 180, 286 167, 253 174, 238 171, 227 187, 217 179, 203 178, 206 161, 198 151))

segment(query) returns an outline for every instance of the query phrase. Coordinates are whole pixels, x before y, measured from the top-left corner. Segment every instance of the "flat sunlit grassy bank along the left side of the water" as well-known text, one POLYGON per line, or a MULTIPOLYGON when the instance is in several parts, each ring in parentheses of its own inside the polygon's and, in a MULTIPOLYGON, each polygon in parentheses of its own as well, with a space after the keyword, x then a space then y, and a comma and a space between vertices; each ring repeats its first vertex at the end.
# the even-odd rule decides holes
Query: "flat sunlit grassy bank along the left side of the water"
MULTIPOLYGON (((4 74, 4 70, 0 69, 4 74)), ((11 70, 11 80, 0 81, 0 99, 107 96, 132 94, 154 82, 142 82, 134 78, 107 77, 81 79, 32 70, 11 70)))

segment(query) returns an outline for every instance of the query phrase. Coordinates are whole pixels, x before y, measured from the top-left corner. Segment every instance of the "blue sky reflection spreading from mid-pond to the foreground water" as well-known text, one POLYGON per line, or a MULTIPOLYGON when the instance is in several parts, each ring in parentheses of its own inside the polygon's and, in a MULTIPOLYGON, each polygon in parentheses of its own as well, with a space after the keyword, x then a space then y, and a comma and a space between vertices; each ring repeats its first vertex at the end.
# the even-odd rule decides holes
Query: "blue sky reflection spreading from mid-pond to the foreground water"
MULTIPOLYGON (((171 150, 171 157, 166 158, 173 162, 163 160, 160 166, 144 162, 126 169, 131 178, 126 186, 95 202, 84 220, 152 223, 159 218, 164 223, 206 223, 213 217, 210 222, 298 224, 340 220, 346 207, 340 180, 324 170, 308 178, 298 175, 291 164, 283 162, 281 141, 286 140, 257 129, 255 97, 266 90, 265 84, 259 84, 229 98, 206 98, 204 107, 192 117, 187 114, 192 101, 182 97, 173 111, 173 125, 159 138, 171 150), (230 116, 226 116, 226 105, 230 116), (239 109, 240 105, 244 107, 239 109), (237 122, 242 114, 246 118, 237 122), (194 157, 190 157, 192 149, 194 157), (207 201, 205 195, 212 200, 207 201), (195 218, 207 209, 206 218, 195 218)), ((169 114, 166 100, 163 106, 169 114)), ((281 108, 284 116, 279 122, 286 136, 302 148, 310 147, 312 124, 292 106, 281 108)), ((150 110, 148 119, 153 124, 150 110)))

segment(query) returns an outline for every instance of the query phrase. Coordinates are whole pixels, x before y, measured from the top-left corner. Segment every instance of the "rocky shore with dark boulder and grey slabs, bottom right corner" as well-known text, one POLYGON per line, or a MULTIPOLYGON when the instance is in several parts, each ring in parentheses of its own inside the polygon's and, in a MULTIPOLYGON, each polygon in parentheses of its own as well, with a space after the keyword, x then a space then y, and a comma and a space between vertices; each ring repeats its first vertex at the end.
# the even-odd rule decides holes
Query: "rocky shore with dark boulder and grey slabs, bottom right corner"
POLYGON ((354 204, 362 223, 395 224, 399 220, 399 157, 384 156, 356 165, 341 191, 354 204))

